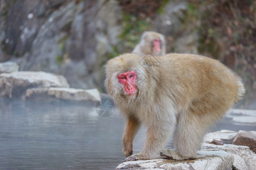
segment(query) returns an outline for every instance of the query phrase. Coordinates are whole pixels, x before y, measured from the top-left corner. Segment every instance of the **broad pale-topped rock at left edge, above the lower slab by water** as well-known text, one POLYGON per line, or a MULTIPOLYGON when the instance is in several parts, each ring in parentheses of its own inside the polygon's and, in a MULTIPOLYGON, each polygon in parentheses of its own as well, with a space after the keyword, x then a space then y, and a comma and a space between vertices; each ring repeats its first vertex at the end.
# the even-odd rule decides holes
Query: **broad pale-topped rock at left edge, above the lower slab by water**
POLYGON ((69 87, 69 84, 64 76, 51 73, 20 71, 0 74, 0 97, 19 98, 28 88, 35 87, 69 87))

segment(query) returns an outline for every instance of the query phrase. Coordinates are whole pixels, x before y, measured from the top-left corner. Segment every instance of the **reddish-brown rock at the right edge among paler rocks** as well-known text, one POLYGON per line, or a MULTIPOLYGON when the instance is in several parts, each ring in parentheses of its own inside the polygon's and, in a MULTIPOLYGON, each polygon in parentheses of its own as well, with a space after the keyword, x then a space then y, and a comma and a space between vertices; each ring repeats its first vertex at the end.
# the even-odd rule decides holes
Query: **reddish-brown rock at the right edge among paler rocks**
POLYGON ((238 131, 236 137, 234 137, 233 143, 234 145, 243 145, 249 146, 250 150, 256 153, 256 131, 238 131))

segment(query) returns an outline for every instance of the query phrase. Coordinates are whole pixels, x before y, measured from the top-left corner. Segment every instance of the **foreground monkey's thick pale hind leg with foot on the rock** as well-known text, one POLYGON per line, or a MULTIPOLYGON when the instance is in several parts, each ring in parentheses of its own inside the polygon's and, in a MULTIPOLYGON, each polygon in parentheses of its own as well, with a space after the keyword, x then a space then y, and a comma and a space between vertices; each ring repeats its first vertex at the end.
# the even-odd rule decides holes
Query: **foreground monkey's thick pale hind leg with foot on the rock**
POLYGON ((160 155, 173 160, 195 159, 209 126, 203 117, 195 113, 181 113, 174 131, 174 150, 164 150, 160 155))

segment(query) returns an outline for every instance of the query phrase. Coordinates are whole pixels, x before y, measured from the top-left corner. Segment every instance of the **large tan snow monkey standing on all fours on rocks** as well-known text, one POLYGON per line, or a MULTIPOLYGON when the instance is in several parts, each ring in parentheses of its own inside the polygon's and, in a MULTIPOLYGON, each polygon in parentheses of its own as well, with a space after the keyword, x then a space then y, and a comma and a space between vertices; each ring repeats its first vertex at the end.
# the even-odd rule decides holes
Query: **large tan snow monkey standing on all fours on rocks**
POLYGON ((194 54, 122 54, 110 59, 105 71, 106 90, 127 117, 123 132, 126 161, 195 158, 205 130, 245 93, 232 70, 194 54), (160 65, 154 66, 152 58, 160 65), (141 124, 147 128, 146 141, 141 152, 131 155, 141 124), (171 134, 174 149, 164 149, 171 134))

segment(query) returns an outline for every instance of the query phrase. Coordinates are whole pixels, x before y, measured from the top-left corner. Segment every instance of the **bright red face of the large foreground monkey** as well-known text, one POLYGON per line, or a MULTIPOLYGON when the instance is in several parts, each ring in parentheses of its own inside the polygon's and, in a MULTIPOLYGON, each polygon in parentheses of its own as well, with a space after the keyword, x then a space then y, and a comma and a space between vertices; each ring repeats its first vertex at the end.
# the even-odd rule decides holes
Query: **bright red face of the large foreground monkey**
POLYGON ((123 88, 127 95, 134 96, 136 92, 136 86, 134 84, 136 80, 135 71, 129 71, 126 73, 119 74, 117 76, 119 83, 123 84, 123 88))

